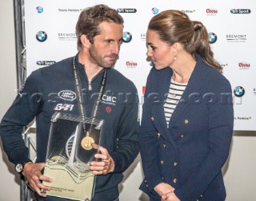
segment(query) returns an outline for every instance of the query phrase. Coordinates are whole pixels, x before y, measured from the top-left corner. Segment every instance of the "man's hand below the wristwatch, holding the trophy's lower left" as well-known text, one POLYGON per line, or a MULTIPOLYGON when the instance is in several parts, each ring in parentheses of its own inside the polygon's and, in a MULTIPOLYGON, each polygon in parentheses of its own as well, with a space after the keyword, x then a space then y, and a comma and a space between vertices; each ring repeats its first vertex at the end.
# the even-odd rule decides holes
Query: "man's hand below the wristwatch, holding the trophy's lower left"
POLYGON ((50 191, 50 187, 42 185, 41 181, 51 182, 49 177, 42 175, 41 171, 45 165, 45 163, 26 163, 24 171, 22 172, 22 175, 24 175, 28 183, 30 183, 30 187, 42 197, 46 197, 46 193, 43 191, 50 191))

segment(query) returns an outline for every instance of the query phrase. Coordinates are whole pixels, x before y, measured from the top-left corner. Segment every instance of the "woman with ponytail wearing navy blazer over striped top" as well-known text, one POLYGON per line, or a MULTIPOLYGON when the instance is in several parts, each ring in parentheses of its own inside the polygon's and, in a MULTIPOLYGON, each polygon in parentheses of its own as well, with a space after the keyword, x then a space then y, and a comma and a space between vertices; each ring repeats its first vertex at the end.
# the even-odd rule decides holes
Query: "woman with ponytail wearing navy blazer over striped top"
POLYGON ((178 10, 150 20, 139 144, 150 200, 226 198, 222 166, 229 155, 233 104, 229 81, 214 60, 206 27, 178 10))

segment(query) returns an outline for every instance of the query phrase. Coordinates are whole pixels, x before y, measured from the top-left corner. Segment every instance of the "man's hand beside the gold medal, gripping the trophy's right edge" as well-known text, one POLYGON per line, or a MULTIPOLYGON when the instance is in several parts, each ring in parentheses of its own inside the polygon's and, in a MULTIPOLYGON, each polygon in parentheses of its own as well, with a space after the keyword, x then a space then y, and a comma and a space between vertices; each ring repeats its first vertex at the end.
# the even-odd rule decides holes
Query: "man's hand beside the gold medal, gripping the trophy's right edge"
POLYGON ((114 160, 111 158, 106 148, 98 147, 100 153, 95 154, 96 159, 102 161, 93 161, 90 163, 90 170, 94 175, 106 175, 111 171, 114 171, 114 160))

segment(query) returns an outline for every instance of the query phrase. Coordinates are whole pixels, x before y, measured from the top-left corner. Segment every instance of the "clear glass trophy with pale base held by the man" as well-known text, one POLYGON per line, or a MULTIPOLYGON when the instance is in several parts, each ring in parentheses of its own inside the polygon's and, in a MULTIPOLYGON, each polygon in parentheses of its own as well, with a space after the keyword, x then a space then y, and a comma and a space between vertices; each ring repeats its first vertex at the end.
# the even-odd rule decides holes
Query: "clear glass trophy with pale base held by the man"
POLYGON ((54 113, 44 169, 52 182, 43 182, 50 186, 46 195, 86 201, 93 198, 96 176, 90 171, 90 162, 98 152, 103 123, 95 118, 54 113))

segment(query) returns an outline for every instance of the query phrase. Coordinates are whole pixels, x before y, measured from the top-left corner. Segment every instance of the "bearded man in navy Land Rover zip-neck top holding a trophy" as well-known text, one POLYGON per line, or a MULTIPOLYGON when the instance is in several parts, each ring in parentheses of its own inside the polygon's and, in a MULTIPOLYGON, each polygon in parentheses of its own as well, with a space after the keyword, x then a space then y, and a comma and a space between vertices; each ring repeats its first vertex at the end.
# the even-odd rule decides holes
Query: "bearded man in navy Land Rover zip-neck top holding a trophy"
POLYGON ((137 90, 131 81, 111 69, 122 44, 122 26, 122 17, 108 6, 98 5, 83 10, 76 26, 79 53, 34 71, 2 119, 0 134, 3 148, 12 163, 22 164, 22 175, 36 192, 37 200, 65 200, 42 193, 42 190, 50 191, 42 181, 50 182, 51 179, 41 172, 45 167, 51 116, 56 111, 81 113, 78 94, 75 93, 74 65, 77 65, 80 75, 85 100, 82 105, 87 116, 92 116, 97 99, 94 95, 99 93, 102 77, 106 75, 97 116, 105 120, 101 146, 95 155, 99 161, 92 162, 90 169, 98 175, 94 200, 118 200, 122 172, 138 155, 137 90), (75 94, 75 98, 63 97, 65 92, 75 94), (28 149, 21 135, 23 126, 34 117, 37 125, 36 163, 28 158, 28 149))

